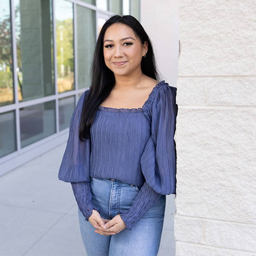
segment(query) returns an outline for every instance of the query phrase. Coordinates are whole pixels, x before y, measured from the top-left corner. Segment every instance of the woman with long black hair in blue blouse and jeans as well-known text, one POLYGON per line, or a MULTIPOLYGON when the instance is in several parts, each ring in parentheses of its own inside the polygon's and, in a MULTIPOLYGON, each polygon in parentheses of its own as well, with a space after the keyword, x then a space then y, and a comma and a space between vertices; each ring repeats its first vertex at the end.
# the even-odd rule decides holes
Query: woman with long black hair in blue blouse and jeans
POLYGON ((107 20, 59 170, 72 184, 88 256, 159 250, 166 195, 176 189, 177 105, 176 88, 158 77, 139 21, 107 20))

